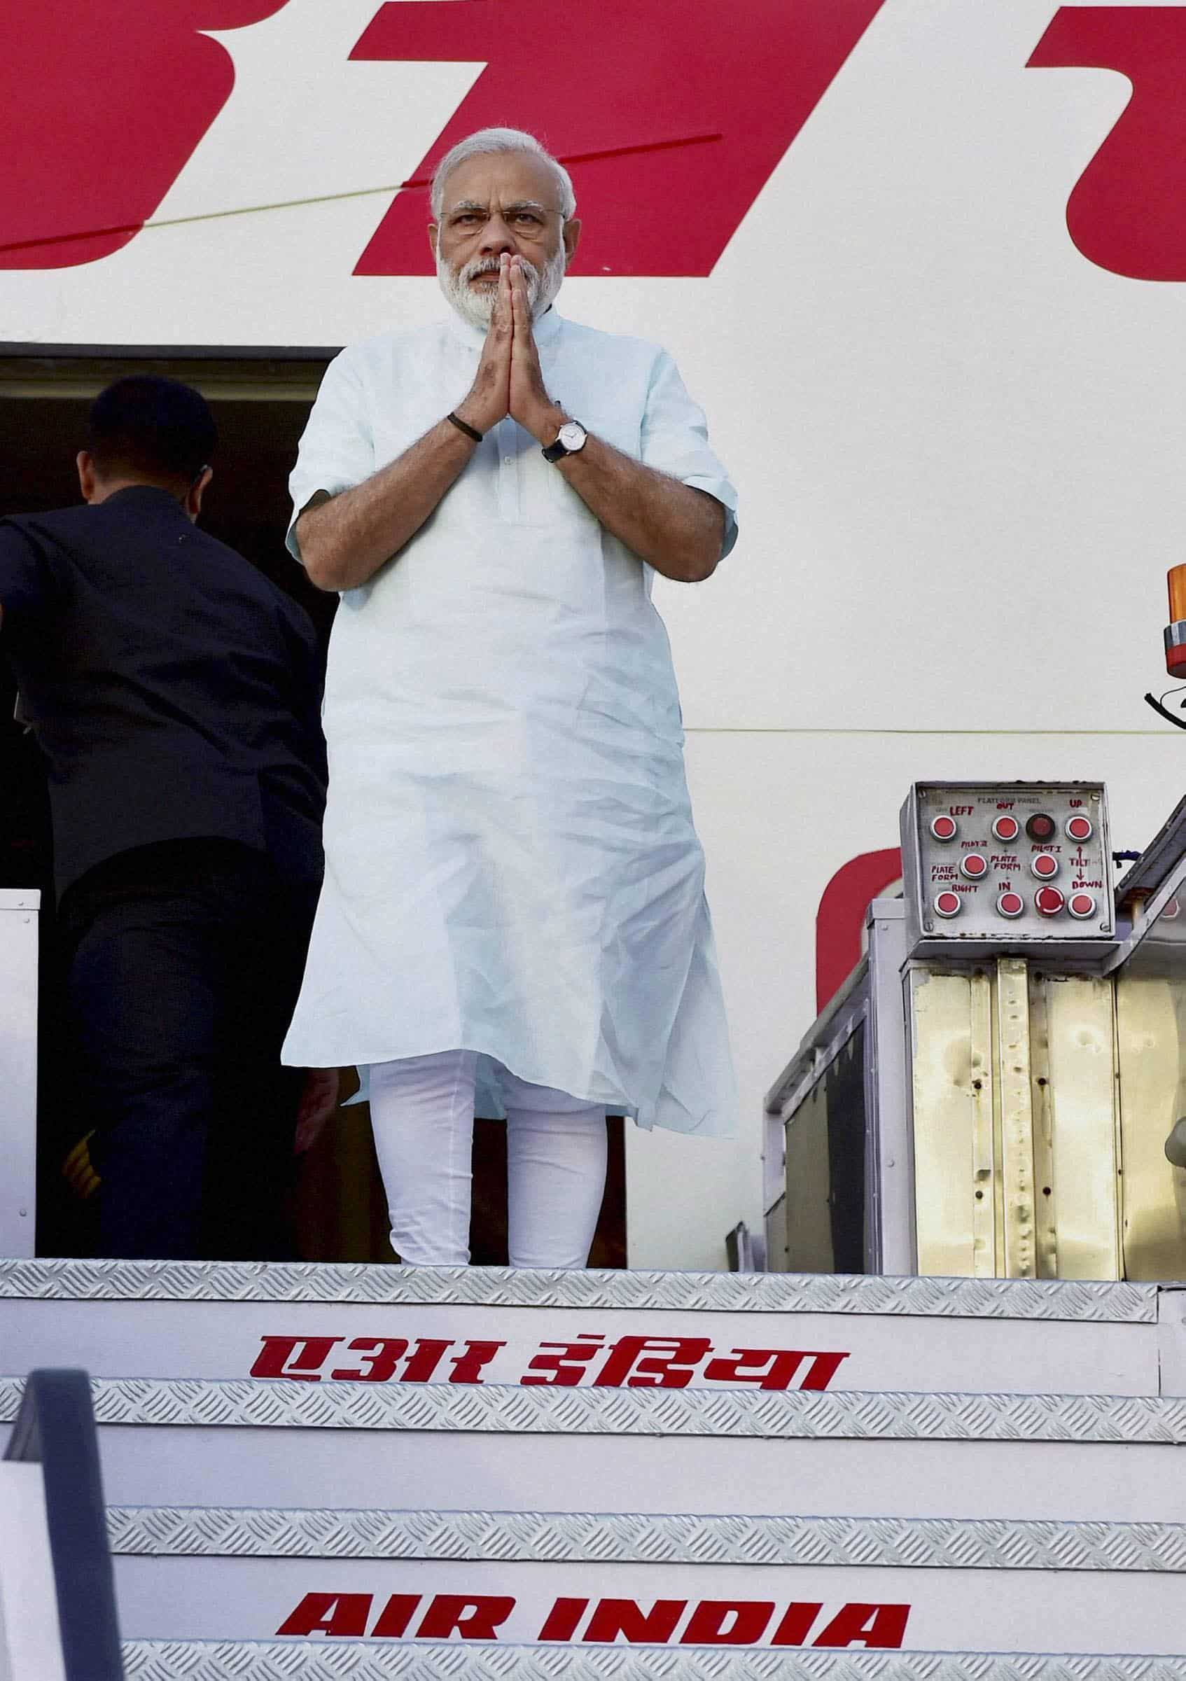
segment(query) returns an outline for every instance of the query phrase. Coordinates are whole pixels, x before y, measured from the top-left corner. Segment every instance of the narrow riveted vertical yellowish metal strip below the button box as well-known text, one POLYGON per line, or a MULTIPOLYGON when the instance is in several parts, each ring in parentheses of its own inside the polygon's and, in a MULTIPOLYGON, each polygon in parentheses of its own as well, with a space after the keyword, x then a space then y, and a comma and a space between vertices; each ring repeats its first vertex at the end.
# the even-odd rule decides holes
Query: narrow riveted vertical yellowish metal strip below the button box
POLYGON ((1001 1084, 1005 1276, 1036 1278, 1030 987, 1025 958, 996 960, 996 1064, 1001 1084))

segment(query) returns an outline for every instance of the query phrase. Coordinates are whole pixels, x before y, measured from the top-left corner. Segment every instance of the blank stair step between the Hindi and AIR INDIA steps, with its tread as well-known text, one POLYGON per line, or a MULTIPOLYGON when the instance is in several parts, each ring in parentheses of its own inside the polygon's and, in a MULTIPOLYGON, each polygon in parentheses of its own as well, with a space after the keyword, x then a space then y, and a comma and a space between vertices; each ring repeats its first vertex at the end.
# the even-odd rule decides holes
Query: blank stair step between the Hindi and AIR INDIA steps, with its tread
MULTIPOLYGON (((1186 1521, 1174 1397, 200 1378, 92 1394, 114 1504, 1186 1521)), ((0 1378, 0 1424, 18 1395, 0 1378)))

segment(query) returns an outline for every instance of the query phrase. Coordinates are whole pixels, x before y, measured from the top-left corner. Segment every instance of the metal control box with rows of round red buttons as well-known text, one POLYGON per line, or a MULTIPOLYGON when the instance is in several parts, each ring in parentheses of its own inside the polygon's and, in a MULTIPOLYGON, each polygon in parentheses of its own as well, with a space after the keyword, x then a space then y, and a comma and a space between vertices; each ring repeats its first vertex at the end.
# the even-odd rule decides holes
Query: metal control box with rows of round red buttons
POLYGON ((916 782, 902 807, 910 945, 1110 941, 1099 782, 916 782))

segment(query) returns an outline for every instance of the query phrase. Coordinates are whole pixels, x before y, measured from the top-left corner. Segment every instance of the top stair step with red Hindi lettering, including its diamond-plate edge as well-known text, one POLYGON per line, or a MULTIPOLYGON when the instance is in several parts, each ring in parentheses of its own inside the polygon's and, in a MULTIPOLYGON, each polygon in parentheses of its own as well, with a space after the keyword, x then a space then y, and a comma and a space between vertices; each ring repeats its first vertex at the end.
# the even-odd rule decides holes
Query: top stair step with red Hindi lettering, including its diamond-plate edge
POLYGON ((0 1330, 99 1377, 763 1392, 1152 1395, 1166 1341, 1152 1284, 128 1261, 0 1261, 0 1330))

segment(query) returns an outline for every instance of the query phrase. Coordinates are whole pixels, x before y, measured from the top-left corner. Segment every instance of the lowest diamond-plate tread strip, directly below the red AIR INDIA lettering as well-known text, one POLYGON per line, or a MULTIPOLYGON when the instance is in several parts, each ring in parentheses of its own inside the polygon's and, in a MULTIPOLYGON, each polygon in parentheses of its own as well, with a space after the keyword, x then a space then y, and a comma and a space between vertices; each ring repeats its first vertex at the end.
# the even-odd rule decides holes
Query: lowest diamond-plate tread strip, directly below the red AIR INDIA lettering
POLYGON ((1186 1657, 128 1641, 126 1681, 1186 1681, 1186 1657))

